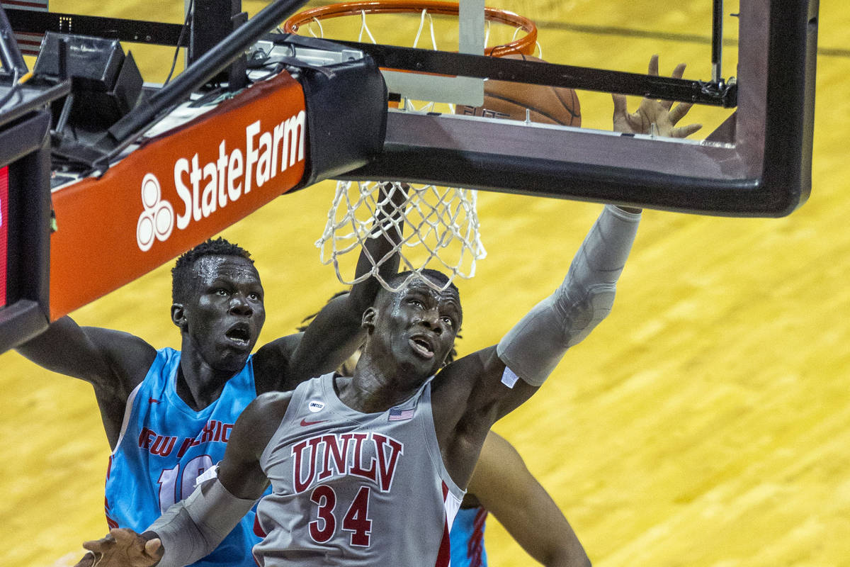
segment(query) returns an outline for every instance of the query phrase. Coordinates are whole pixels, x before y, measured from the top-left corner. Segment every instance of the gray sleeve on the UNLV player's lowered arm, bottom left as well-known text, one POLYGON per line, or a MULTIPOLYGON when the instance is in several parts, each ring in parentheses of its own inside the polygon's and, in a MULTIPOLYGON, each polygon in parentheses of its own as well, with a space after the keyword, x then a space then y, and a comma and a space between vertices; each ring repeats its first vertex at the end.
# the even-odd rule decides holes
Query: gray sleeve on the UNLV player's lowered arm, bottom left
POLYGON ((157 567, 183 567, 212 553, 256 500, 237 498, 218 479, 198 485, 148 528, 165 548, 157 567))

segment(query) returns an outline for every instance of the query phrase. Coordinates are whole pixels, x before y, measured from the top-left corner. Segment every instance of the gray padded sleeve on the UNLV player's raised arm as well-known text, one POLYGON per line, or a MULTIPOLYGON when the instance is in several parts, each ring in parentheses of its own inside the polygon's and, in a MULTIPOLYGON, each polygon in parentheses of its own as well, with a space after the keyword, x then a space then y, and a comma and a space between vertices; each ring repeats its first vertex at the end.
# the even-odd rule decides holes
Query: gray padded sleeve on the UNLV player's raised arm
POLYGON ((507 332, 496 353, 514 374, 540 386, 567 349, 581 342, 614 303, 617 279, 640 213, 608 205, 576 252, 564 283, 507 332))

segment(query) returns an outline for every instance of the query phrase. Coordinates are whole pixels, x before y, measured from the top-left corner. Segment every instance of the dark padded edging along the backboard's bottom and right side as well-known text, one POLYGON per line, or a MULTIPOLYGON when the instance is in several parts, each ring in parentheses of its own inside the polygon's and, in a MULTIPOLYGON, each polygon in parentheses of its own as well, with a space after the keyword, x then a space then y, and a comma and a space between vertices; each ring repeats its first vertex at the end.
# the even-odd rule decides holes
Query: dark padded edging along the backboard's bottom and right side
MULTIPOLYGON (((391 112, 382 155, 343 179, 450 184, 684 213, 789 214, 806 201, 812 183, 818 9, 818 0, 741 3, 737 110, 724 135, 708 143, 391 112)), ((489 65, 481 59, 482 67, 489 65)), ((513 62, 502 64, 507 69, 513 62)), ((622 92, 622 86, 606 90, 622 92)))

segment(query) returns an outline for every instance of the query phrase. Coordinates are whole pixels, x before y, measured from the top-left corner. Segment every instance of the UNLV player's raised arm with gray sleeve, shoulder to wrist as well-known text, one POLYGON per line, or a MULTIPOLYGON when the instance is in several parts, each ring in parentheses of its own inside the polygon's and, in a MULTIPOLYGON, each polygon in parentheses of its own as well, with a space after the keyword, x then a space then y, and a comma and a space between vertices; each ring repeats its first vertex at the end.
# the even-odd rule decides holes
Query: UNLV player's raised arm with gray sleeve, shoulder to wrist
POLYGON ((434 422, 444 462, 462 485, 475 451, 499 418, 528 400, 567 349, 609 314, 616 282, 641 214, 607 205, 582 242, 563 283, 498 345, 463 357, 434 382, 434 422))

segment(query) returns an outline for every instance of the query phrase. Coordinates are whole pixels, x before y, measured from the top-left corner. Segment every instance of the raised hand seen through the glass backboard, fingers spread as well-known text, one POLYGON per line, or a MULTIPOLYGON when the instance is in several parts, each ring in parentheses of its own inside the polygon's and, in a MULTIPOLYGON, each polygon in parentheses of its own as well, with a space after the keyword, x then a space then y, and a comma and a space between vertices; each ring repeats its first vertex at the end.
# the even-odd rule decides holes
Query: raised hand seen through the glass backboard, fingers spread
MULTIPOLYGON (((685 72, 685 64, 676 65, 671 77, 681 79, 685 72)), ((658 55, 649 60, 649 75, 658 77, 658 55)), ((676 124, 688 114, 692 103, 679 103, 673 108, 672 100, 656 100, 643 98, 638 110, 629 114, 626 105, 626 95, 611 94, 614 99, 614 131, 622 133, 655 133, 667 138, 686 138, 702 128, 702 124, 689 124, 677 127, 676 124), (655 124, 655 132, 652 125, 655 124)))

